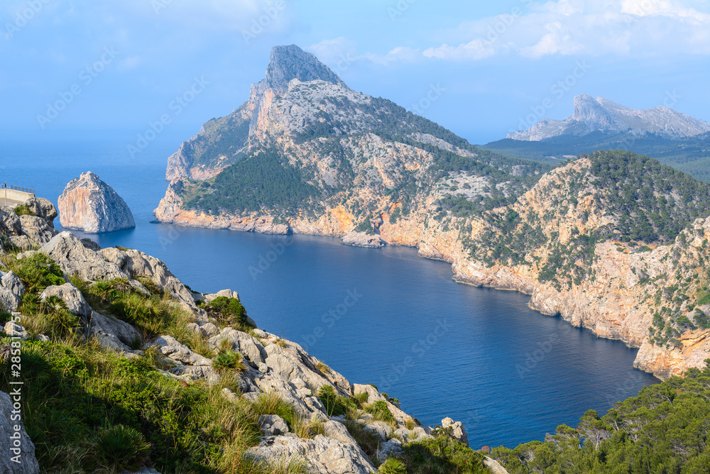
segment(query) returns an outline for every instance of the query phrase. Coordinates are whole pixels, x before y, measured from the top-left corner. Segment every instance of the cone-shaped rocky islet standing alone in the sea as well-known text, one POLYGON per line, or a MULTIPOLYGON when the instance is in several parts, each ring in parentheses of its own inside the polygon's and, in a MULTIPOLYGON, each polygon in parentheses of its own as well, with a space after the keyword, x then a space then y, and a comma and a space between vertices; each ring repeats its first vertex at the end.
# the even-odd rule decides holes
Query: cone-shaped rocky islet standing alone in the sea
POLYGON ((90 171, 67 184, 58 204, 65 228, 100 233, 136 226, 126 202, 90 171))

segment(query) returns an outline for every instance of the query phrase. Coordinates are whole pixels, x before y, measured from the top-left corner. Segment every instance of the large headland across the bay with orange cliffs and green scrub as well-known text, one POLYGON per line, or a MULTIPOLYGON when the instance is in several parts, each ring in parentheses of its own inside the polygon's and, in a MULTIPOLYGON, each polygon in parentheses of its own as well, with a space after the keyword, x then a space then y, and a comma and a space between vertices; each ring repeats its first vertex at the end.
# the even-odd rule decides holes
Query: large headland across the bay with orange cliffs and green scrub
MULTIPOLYGON (((693 316, 710 312, 694 303, 705 257, 677 242, 710 227, 696 221, 710 209, 705 184, 633 153, 551 172, 493 155, 352 91, 310 55, 303 70, 324 75, 291 77, 294 51, 272 54, 281 89, 255 84, 246 104, 170 158, 158 220, 418 247, 452 263, 461 282, 525 292, 540 312, 640 347, 636 365, 660 377, 710 357, 704 316, 693 316)), ((594 103, 587 115, 599 120, 621 113, 594 103)))

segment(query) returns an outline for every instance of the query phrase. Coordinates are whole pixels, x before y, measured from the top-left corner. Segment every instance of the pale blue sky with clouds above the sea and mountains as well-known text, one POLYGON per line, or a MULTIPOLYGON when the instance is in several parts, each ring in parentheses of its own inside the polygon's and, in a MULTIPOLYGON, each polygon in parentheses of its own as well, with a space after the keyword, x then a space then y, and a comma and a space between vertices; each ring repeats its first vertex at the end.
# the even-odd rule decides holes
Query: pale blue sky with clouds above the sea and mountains
POLYGON ((710 0, 3 0, 0 137, 189 138, 290 44, 471 143, 577 94, 710 121, 710 0))

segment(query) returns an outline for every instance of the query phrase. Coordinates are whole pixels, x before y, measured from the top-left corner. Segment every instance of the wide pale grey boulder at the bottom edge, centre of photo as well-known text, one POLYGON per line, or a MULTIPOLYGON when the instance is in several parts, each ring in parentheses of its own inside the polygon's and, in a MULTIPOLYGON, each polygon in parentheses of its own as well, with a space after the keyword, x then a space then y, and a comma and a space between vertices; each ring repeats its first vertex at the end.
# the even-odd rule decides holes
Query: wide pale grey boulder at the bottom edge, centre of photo
POLYGON ((346 444, 322 435, 314 439, 276 436, 262 441, 259 446, 246 451, 249 456, 278 463, 292 458, 302 458, 311 473, 366 474, 376 469, 355 445, 346 444))

